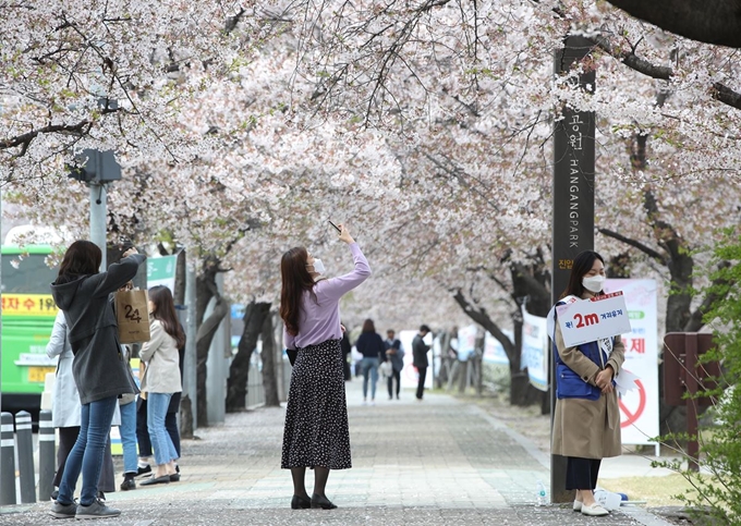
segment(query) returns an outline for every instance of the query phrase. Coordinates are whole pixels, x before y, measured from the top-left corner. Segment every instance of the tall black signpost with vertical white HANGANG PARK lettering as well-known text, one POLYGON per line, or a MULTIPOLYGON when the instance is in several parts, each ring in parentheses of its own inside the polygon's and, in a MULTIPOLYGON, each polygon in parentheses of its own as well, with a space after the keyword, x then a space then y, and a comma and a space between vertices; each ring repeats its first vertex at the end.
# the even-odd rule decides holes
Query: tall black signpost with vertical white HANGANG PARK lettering
MULTIPOLYGON (((555 74, 561 75, 590 54, 594 42, 580 36, 564 39, 556 51, 555 74)), ((581 89, 594 93, 594 70, 579 77, 581 89)), ((554 303, 569 282, 576 254, 594 249, 594 112, 561 109, 563 119, 554 130, 554 259, 551 291, 554 303)), ((552 353, 550 356, 550 414, 556 408, 552 353)), ((566 457, 550 456, 551 502, 569 502, 566 491, 566 457)))

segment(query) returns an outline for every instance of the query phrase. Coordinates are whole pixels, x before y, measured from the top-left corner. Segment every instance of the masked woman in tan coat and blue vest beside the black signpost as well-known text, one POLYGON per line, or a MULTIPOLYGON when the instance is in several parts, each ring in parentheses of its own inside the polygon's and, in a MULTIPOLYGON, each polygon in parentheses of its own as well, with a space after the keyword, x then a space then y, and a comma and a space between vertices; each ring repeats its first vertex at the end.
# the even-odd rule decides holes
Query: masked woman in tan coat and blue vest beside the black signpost
MULTIPOLYGON (((604 283, 603 257, 582 252, 556 305, 602 295, 604 283)), ((625 347, 619 335, 567 347, 556 318, 554 307, 548 315, 557 399, 551 452, 567 457, 566 489, 576 490, 573 510, 603 516, 608 511, 595 501, 594 489, 602 460, 620 455, 620 409, 614 378, 625 359, 625 347)))

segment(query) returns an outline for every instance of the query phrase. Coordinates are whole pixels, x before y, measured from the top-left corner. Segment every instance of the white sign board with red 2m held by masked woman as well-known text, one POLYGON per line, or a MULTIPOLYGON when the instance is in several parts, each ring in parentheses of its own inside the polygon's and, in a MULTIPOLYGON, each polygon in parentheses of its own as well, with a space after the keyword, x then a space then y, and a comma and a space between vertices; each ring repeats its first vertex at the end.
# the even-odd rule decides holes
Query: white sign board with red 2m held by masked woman
POLYGON ((630 332, 622 292, 615 292, 556 307, 567 347, 630 332))

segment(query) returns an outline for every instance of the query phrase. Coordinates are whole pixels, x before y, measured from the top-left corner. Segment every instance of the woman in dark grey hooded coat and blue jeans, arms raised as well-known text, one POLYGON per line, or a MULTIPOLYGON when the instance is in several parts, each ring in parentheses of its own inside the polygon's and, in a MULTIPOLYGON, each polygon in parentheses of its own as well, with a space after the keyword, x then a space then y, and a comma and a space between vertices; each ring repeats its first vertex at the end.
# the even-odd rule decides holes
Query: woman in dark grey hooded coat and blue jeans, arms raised
POLYGON ((131 281, 145 256, 129 248, 123 258, 99 272, 102 253, 95 243, 75 241, 64 253, 51 295, 64 313, 74 362, 72 374, 80 393, 80 435, 64 465, 59 496, 50 514, 57 518, 113 517, 119 510, 98 499, 98 479, 119 395, 136 393, 121 355, 118 323, 109 295, 131 281), (74 488, 80 474, 80 505, 74 488))

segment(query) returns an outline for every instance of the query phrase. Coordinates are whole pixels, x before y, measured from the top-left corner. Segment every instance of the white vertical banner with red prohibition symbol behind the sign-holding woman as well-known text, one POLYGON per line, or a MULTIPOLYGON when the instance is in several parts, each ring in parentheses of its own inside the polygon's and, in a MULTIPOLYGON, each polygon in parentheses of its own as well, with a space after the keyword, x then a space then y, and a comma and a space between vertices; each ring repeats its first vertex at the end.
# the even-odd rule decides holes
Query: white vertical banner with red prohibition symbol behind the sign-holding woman
POLYGON ((656 281, 608 279, 605 292, 622 291, 631 332, 623 369, 637 376, 635 389, 620 396, 620 431, 623 444, 653 444, 658 426, 658 316, 656 281))

